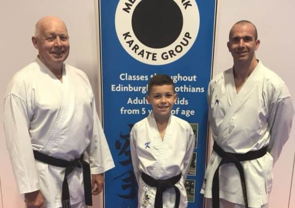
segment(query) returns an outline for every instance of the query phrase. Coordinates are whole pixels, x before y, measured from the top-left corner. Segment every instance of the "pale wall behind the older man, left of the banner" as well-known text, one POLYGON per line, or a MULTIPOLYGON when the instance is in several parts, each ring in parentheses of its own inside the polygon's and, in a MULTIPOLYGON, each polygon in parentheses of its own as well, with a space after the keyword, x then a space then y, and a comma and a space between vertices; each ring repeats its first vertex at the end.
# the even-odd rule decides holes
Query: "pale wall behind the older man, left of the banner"
MULTIPOLYGON (((45 15, 63 19, 70 36, 67 63, 89 76, 98 102, 98 53, 94 0, 0 0, 0 180, 3 208, 23 208, 6 150, 2 127, 3 96, 9 79, 37 55, 31 43, 35 23, 45 15)), ((100 85, 99 85, 100 86, 100 85)), ((100 109, 98 109, 100 112, 100 109)), ((93 206, 98 208, 98 198, 93 206)), ((0 205, 1 207, 1 205, 0 205)))

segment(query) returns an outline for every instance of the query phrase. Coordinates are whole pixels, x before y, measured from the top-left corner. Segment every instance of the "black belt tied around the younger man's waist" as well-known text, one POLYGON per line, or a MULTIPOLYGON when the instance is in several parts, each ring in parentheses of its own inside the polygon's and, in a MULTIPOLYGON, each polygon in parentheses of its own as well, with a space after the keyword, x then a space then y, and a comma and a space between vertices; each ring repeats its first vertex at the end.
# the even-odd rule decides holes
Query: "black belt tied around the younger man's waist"
POLYGON ((213 177, 213 185, 212 185, 212 205, 213 208, 219 208, 219 167, 224 163, 234 163, 236 168, 239 172, 241 178, 241 184, 243 189, 244 195, 244 202, 245 207, 248 207, 248 197, 247 197, 247 190, 246 190, 246 181, 245 181, 245 174, 243 170, 243 166, 240 163, 241 161, 246 160, 254 160, 259 157, 262 157, 267 152, 267 146, 257 150, 257 151, 248 151, 245 154, 237 154, 237 153, 230 153, 223 151, 217 144, 214 142, 213 150, 222 158, 220 164, 218 165, 214 177, 213 177))

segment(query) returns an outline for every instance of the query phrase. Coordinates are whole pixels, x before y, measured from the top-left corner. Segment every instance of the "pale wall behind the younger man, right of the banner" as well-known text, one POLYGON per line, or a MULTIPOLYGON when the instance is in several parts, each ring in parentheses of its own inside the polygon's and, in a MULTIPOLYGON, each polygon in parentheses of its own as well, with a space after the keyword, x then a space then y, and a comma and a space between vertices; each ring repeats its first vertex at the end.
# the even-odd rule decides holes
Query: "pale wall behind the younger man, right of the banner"
MULTIPOLYGON (((213 76, 233 65, 226 43, 232 25, 241 19, 252 21, 261 43, 256 57, 285 80, 295 104, 295 1, 294 0, 218 0, 218 19, 213 76)), ((274 168, 274 186, 270 208, 288 208, 292 168, 295 153, 295 122, 274 168)), ((295 180, 295 179, 293 179, 295 180)), ((294 183, 293 183, 294 186, 294 183)), ((295 191, 290 207, 295 207, 295 191)))

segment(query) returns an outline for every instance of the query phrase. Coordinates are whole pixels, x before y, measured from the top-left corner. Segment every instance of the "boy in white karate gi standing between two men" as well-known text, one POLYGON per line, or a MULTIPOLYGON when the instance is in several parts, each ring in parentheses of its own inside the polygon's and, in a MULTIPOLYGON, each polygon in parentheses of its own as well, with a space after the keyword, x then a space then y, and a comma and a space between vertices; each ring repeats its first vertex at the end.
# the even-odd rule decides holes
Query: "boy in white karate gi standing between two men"
POLYGON ((138 208, 186 208, 184 182, 195 149, 194 132, 171 114, 177 94, 169 76, 153 76, 146 98, 153 112, 130 132, 138 208))

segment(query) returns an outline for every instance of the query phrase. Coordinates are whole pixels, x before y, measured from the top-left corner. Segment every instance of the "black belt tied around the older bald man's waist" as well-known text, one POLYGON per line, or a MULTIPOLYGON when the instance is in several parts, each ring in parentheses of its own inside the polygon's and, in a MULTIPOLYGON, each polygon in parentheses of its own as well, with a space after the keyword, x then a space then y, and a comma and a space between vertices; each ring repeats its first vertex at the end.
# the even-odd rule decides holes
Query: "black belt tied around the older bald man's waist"
POLYGON ((34 157, 36 160, 39 160, 43 163, 65 168, 64 179, 62 182, 62 193, 61 193, 62 208, 71 208, 70 192, 69 192, 67 176, 76 167, 83 168, 85 203, 86 205, 92 206, 90 166, 87 162, 83 160, 83 155, 79 159, 75 159, 73 161, 67 161, 67 160, 62 160, 62 159, 48 156, 46 154, 42 154, 39 151, 34 151, 34 157))

